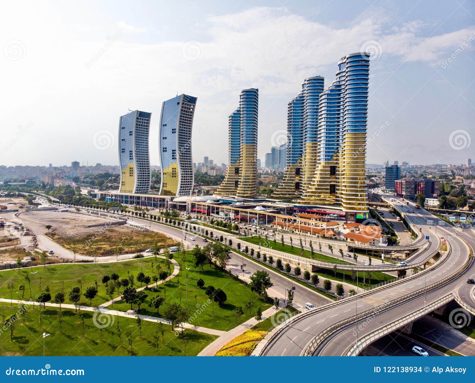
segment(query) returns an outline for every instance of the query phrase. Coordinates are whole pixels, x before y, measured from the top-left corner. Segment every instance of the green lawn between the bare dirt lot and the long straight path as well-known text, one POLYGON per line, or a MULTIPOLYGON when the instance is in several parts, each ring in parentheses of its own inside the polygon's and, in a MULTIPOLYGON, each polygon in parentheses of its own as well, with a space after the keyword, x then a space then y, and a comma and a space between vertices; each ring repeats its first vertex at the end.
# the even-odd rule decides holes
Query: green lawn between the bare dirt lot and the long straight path
MULTIPOLYGON (((160 260, 162 258, 158 259, 160 260)), ((104 275, 112 275, 113 273, 116 273, 120 276, 120 279, 122 279, 127 278, 127 272, 129 272, 136 277, 137 273, 141 270, 141 265, 143 269, 150 269, 152 262, 154 264, 157 263, 154 257, 102 264, 58 264, 47 265, 46 267, 33 267, 33 269, 26 267, 19 270, 5 270, 0 272, 0 297, 10 299, 10 291, 7 287, 9 284, 13 284, 15 287, 12 294, 13 299, 22 299, 22 292, 19 290, 19 285, 26 286, 24 295, 25 300, 29 300, 30 297, 33 297, 33 275, 29 274, 31 270, 33 270, 33 272, 38 272, 38 274, 34 275, 35 296, 38 296, 39 292, 44 291, 46 285, 48 285, 51 298, 54 299, 55 294, 58 291, 62 291, 64 282, 64 292, 66 295, 65 303, 70 304, 71 302, 69 302, 67 292, 71 287, 79 286, 79 280, 81 280, 82 283, 83 293, 88 286, 94 285, 94 282, 97 281, 98 293, 92 300, 92 304, 90 304, 89 299, 86 299, 84 296, 81 297, 80 304, 85 306, 98 306, 99 304, 103 304, 110 300, 110 298, 105 294, 105 285, 102 284, 102 277, 104 275), (28 288, 28 282, 25 280, 25 275, 28 275, 30 278, 31 295, 28 288)), ((135 282, 135 285, 137 286, 137 282, 135 282)), ((120 294, 116 291, 115 296, 118 295, 120 294)))

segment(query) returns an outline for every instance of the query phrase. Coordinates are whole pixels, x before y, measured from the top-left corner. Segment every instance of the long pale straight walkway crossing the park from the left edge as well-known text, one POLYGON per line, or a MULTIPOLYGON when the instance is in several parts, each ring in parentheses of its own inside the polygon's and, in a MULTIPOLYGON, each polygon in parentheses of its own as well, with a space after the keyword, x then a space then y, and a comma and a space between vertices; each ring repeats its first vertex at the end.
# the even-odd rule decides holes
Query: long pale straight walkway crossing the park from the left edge
MULTIPOLYGON (((0 302, 10 303, 10 299, 0 298, 0 302)), ((15 304, 24 303, 24 304, 28 304, 28 305, 31 305, 31 306, 33 305, 33 301, 21 301, 21 300, 18 300, 18 299, 13 299, 11 302, 15 303, 15 304)), ((39 303, 35 302, 35 304, 38 305, 39 303)), ((59 304, 56 304, 56 303, 47 302, 45 305, 48 306, 48 307, 59 307, 59 304)), ((62 308, 68 308, 68 309, 76 309, 76 306, 74 304, 61 304, 61 307, 62 308)), ((79 306, 78 309, 83 310, 83 311, 92 311, 92 312, 97 311, 95 307, 91 307, 91 306, 79 306)), ((122 316, 122 317, 130 318, 130 319, 133 319, 133 318, 136 318, 137 316, 139 316, 144 321, 156 322, 156 323, 161 322, 161 323, 164 323, 164 324, 169 324, 163 318, 158 318, 158 317, 149 316, 149 315, 134 314, 134 313, 131 313, 131 312, 109 310, 108 308, 101 307, 101 306, 99 306, 99 312, 104 313, 106 315, 116 315, 116 316, 122 316)), ((101 318, 99 318, 98 320, 99 320, 99 324, 101 324, 102 323, 101 318)), ((212 328, 207 328, 207 327, 195 326, 195 325, 189 324, 189 323, 183 323, 182 326, 183 326, 184 329, 186 328, 186 329, 190 329, 190 330, 195 330, 195 331, 198 331, 200 333, 205 333, 205 334, 218 335, 218 336, 226 334, 225 331, 214 330, 212 328)), ((175 327, 175 330, 177 330, 179 328, 181 328, 181 326, 180 327, 178 327, 178 326, 175 327)))

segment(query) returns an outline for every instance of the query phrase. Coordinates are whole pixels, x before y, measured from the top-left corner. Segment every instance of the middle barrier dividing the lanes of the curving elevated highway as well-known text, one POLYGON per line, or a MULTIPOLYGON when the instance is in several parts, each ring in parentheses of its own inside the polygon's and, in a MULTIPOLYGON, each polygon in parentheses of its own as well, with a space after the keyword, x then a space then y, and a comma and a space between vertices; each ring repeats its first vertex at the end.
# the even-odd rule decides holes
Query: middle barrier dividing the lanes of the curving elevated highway
MULTIPOLYGON (((468 246, 468 248, 470 249, 470 246, 468 246)), ((388 307, 400 304, 402 302, 406 302, 409 299, 411 299, 415 296, 421 295, 421 294, 423 294, 427 291, 432 291, 432 290, 436 289, 437 287, 440 287, 442 285, 446 285, 448 282, 451 282, 453 279, 455 279, 461 273, 463 273, 472 264, 472 262, 473 262, 473 252, 469 250, 469 256, 468 256, 467 261, 461 267, 459 267, 455 272, 453 272, 452 274, 448 275, 447 277, 441 279, 440 281, 438 281, 438 282, 436 282, 432 285, 428 285, 426 287, 423 287, 421 289, 413 291, 412 293, 409 293, 408 295, 404 295, 404 296, 401 296, 399 298, 393 299, 392 301, 389 301, 387 303, 381 304, 380 306, 377 306, 376 309, 380 309, 380 308, 381 309, 386 309, 388 307)), ((353 322, 356 322, 357 320, 366 318, 374 310, 375 309, 373 308, 373 309, 370 309, 370 310, 363 311, 362 313, 360 313, 358 315, 353 315, 350 318, 343 319, 343 320, 331 325, 330 327, 326 328, 325 330, 323 330, 322 332, 320 332, 319 334, 317 334, 314 337, 314 339, 306 347, 304 354, 305 355, 314 354, 318 349, 320 349, 323 346, 323 343, 322 343, 323 340, 328 339, 329 336, 334 334, 336 331, 342 329, 343 327, 346 327, 348 324, 351 324, 353 322)))

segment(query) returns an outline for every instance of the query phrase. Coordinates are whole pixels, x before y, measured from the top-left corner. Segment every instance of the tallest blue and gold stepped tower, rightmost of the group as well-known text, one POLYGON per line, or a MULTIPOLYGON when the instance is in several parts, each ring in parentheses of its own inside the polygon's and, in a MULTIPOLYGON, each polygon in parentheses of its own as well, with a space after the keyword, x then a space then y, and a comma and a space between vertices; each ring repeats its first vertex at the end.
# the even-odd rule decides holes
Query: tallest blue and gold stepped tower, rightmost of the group
POLYGON ((299 202, 341 208, 349 219, 368 211, 365 184, 370 55, 338 62, 336 79, 320 95, 318 166, 299 202))

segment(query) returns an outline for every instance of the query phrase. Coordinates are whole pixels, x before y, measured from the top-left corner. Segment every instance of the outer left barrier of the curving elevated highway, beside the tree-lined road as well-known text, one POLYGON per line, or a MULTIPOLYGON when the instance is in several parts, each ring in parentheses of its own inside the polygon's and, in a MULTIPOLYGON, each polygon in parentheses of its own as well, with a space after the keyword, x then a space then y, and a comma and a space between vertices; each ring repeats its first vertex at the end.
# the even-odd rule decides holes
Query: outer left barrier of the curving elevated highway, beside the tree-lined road
MULTIPOLYGON (((314 310, 311 310, 311 311, 308 311, 306 313, 302 313, 302 314, 298 314, 298 315, 295 315, 295 317, 293 317, 290 321, 287 321, 287 324, 290 325, 290 324, 293 324, 297 321, 300 321, 302 319, 305 319, 306 317, 308 316, 311 316, 311 315, 314 315, 314 314, 318 314, 324 310, 327 310, 329 308, 332 308, 334 306, 336 306, 337 304, 341 304, 342 302, 350 302, 350 301, 353 301, 353 300, 356 300, 360 297, 365 297, 366 295, 371 295, 371 294, 374 294, 380 290, 384 290, 388 287, 394 287, 396 285, 400 285, 402 283, 405 283, 406 281, 408 280, 412 280, 412 279, 416 279, 418 277, 420 277, 421 275, 423 274, 426 274, 430 271, 433 271, 434 269, 438 268, 443 262, 445 262, 445 260, 448 258, 448 256, 451 254, 452 252, 452 247, 450 246, 449 243, 447 243, 447 245, 449 246, 448 248, 448 252, 447 252, 447 255, 441 259, 439 262, 437 262, 437 264, 435 264, 433 267, 431 268, 428 268, 424 271, 421 271, 420 273, 418 273, 417 275, 414 274, 412 276, 409 276, 409 277, 405 277, 405 278, 401 278, 399 279, 398 281, 395 281, 395 282, 392 282, 390 285, 380 285, 378 287, 375 287, 371 290, 368 290, 368 291, 365 291, 364 293, 361 293, 361 294, 358 294, 358 295, 352 295, 352 296, 349 296, 347 298, 344 298, 340 301, 336 301, 336 302, 333 302, 333 303, 330 303, 330 304, 325 304, 324 306, 321 306, 321 307, 318 307, 314 310), (377 290, 377 291, 376 291, 377 290)), ((438 251, 438 249, 437 249, 438 251)), ((269 334, 267 334, 268 338, 264 337, 263 339, 263 342, 266 341, 266 343, 260 348, 260 351, 258 352, 258 354, 256 355, 263 355, 266 351, 266 349, 268 348, 269 344, 271 344, 272 341, 274 341, 274 339, 276 339, 277 336, 279 336, 284 330, 286 329, 286 327, 284 325, 280 325, 278 327, 276 327, 272 332, 270 332, 269 334)))

